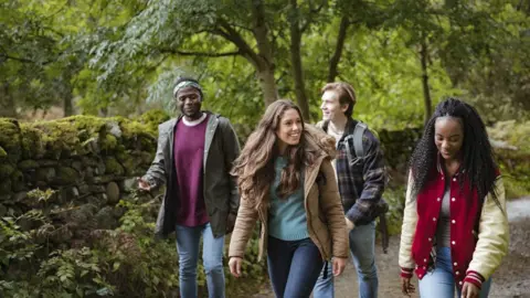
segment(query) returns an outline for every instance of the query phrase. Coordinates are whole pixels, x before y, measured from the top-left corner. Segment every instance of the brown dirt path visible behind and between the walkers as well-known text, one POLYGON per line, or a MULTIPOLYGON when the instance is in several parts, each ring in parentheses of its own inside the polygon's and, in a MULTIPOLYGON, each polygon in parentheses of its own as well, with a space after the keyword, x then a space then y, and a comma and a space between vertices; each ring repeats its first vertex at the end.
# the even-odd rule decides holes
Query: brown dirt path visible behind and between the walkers
MULTIPOLYGON (((494 275, 491 298, 530 298, 530 196, 511 201, 508 204, 510 220, 510 251, 502 265, 494 275)), ((390 238, 388 254, 383 254, 381 245, 377 246, 379 272, 379 297, 403 297, 400 290, 398 251, 400 237, 390 238)), ((417 289, 417 279, 414 278, 417 289)), ((349 264, 344 274, 336 279, 336 298, 358 296, 357 273, 349 264)), ((266 285, 254 298, 274 298, 271 287, 266 285)), ((417 298, 417 296, 414 296, 417 298)))

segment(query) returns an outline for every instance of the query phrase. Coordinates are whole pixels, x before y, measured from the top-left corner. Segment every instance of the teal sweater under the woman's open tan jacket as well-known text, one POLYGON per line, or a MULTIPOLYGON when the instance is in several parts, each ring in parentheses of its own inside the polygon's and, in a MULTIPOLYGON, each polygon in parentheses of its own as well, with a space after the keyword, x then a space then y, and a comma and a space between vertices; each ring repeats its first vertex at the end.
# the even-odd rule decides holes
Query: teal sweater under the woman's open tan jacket
MULTIPOLYGON (((275 177, 271 185, 268 234, 283 241, 298 241, 309 237, 306 209, 304 206, 304 184, 287 199, 282 200, 278 198, 277 189, 282 178, 282 170, 286 166, 286 158, 276 158, 274 162, 275 177)), ((301 178, 301 181, 304 181, 304 178, 301 178)))

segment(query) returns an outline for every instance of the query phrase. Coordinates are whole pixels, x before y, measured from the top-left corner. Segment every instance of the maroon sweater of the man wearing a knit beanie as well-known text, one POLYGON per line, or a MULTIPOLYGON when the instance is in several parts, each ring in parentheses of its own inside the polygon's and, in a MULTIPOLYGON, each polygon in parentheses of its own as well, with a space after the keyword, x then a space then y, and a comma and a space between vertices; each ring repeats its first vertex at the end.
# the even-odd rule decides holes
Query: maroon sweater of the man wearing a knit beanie
POLYGON ((202 181, 208 118, 209 116, 194 126, 186 125, 182 119, 174 129, 174 169, 180 200, 180 207, 177 210, 178 225, 199 226, 210 221, 202 181))

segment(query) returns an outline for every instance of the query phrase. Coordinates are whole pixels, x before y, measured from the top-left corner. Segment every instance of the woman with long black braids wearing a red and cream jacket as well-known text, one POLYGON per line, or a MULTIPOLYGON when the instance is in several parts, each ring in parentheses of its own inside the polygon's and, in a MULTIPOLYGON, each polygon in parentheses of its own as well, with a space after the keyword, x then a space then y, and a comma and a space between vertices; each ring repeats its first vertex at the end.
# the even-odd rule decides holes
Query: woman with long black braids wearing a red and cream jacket
POLYGON ((508 251, 502 179, 486 127, 470 105, 436 106, 411 161, 400 266, 402 291, 421 297, 487 297, 508 251))

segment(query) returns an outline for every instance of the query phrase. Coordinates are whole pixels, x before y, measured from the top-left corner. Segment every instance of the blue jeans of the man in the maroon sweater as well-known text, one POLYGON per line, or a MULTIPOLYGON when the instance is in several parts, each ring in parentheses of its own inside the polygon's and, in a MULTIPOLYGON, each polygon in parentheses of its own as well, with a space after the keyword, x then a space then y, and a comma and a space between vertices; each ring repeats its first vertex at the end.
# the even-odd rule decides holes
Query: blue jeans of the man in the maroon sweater
POLYGON ((198 296, 197 265, 199 263, 199 243, 202 235, 202 262, 206 273, 209 297, 224 298, 224 236, 215 238, 210 223, 193 227, 177 225, 176 228, 180 297, 197 298, 198 296))

